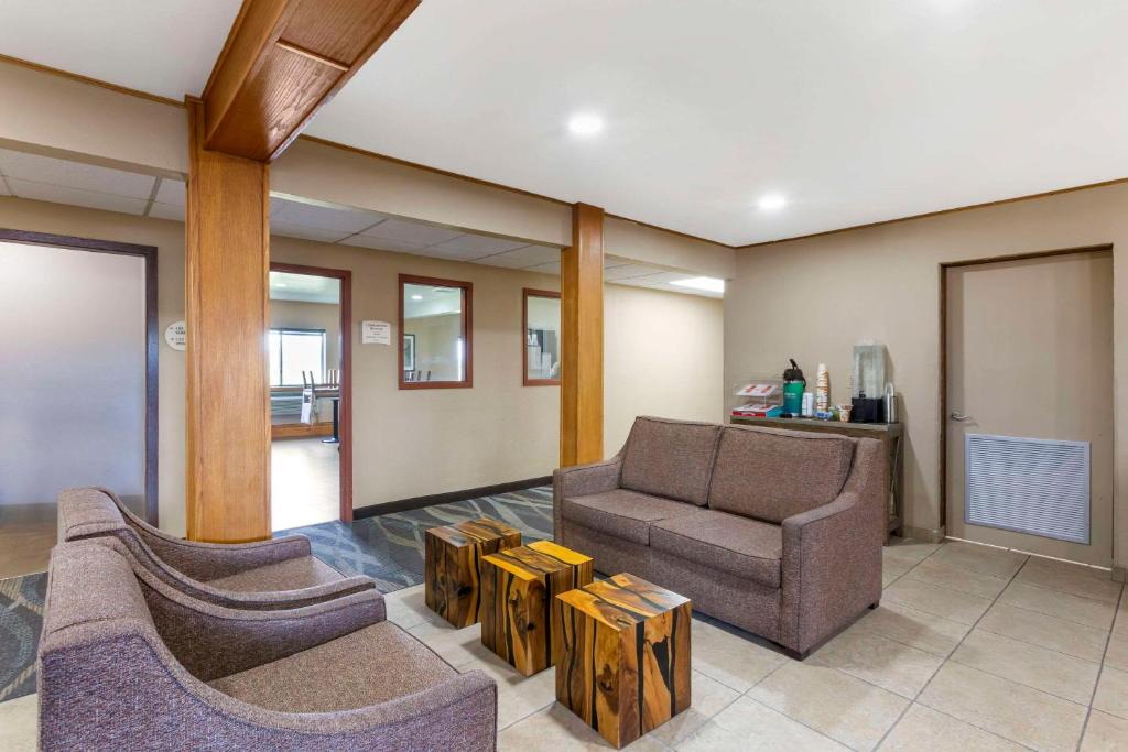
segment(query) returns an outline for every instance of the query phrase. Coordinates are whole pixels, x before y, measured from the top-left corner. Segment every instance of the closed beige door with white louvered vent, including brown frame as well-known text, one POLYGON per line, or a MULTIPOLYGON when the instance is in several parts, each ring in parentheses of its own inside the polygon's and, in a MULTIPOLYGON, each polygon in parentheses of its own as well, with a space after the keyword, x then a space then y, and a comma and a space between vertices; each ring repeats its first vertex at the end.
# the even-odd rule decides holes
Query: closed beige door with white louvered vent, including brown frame
POLYGON ((949 537, 1112 563, 1112 254, 943 265, 949 537))

